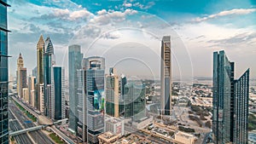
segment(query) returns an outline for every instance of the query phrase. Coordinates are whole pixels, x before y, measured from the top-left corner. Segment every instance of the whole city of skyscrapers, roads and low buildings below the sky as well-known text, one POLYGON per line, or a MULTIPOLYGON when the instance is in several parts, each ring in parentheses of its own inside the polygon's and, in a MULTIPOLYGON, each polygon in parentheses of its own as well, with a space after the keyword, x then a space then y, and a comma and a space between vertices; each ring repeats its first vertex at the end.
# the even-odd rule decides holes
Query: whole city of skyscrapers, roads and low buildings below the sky
POLYGON ((172 76, 175 46, 171 34, 162 36, 160 78, 133 78, 107 67, 102 55, 85 57, 79 44, 68 46, 64 67, 42 34, 32 72, 24 60, 31 55, 20 52, 16 75, 9 77, 10 5, 0 2, 1 144, 256 143, 256 79, 249 67, 236 79, 239 61, 224 50, 209 58, 212 78, 186 82, 172 76))

